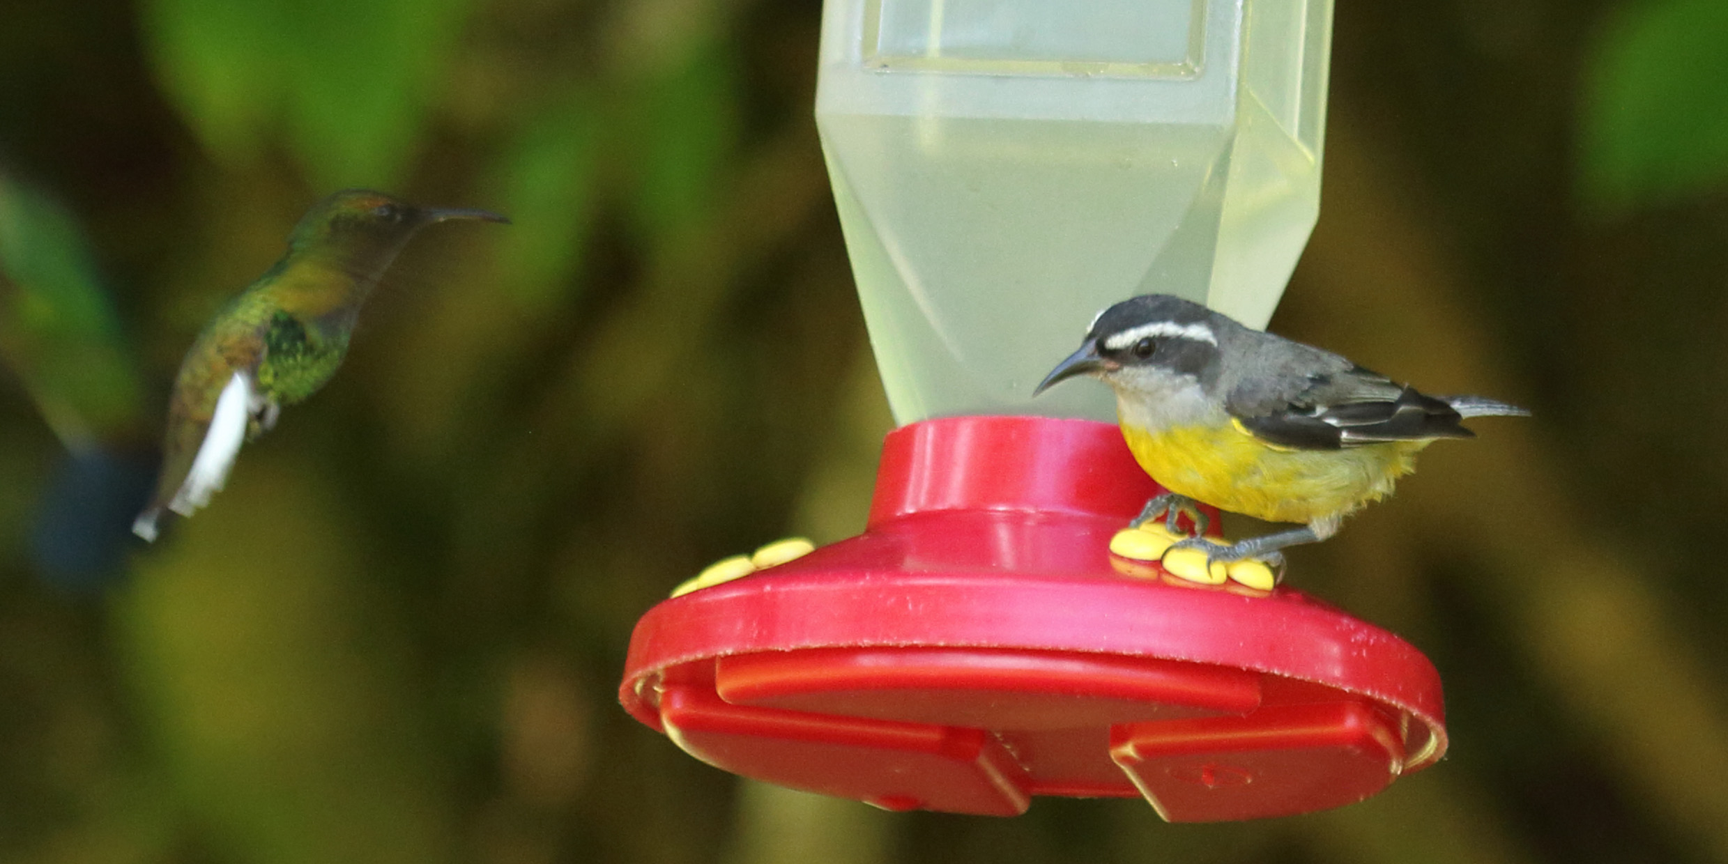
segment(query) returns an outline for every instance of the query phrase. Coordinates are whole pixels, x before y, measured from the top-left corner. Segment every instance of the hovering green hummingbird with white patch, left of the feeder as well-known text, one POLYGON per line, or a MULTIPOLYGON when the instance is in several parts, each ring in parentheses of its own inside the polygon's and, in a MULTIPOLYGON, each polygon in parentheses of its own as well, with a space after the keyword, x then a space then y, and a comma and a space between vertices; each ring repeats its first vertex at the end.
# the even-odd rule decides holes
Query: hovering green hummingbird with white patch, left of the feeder
POLYGON ((276 425, 283 404, 318 392, 347 354, 366 295, 420 228, 510 219, 416 207, 349 188, 314 204, 289 251, 204 327, 175 377, 162 473, 133 534, 154 541, 162 510, 190 517, 223 487, 240 444, 276 425))

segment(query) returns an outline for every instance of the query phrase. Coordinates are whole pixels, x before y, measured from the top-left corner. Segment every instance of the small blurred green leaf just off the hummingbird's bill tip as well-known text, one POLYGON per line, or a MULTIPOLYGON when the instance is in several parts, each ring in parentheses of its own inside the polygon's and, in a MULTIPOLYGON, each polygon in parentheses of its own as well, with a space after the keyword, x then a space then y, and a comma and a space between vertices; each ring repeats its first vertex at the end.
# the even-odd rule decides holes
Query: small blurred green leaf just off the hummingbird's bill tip
POLYGON ((567 97, 525 123, 501 161, 505 202, 515 221, 501 240, 508 283, 527 308, 569 289, 600 204, 603 118, 591 93, 567 97))

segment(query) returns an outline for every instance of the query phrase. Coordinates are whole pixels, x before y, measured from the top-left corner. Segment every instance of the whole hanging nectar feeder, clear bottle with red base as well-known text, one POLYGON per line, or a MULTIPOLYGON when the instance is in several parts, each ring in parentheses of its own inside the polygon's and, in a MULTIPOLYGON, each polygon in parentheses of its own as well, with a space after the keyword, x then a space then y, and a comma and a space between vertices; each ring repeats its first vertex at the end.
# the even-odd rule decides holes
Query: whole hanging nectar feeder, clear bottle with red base
POLYGON ((1438 760, 1427 658, 1113 555, 1161 489, 1104 387, 1032 399, 1134 294, 1265 325, 1317 216, 1329 36, 1329 0, 828 0, 817 126, 900 427, 864 534, 638 622, 624 707, 890 810, 1251 819, 1438 760))

